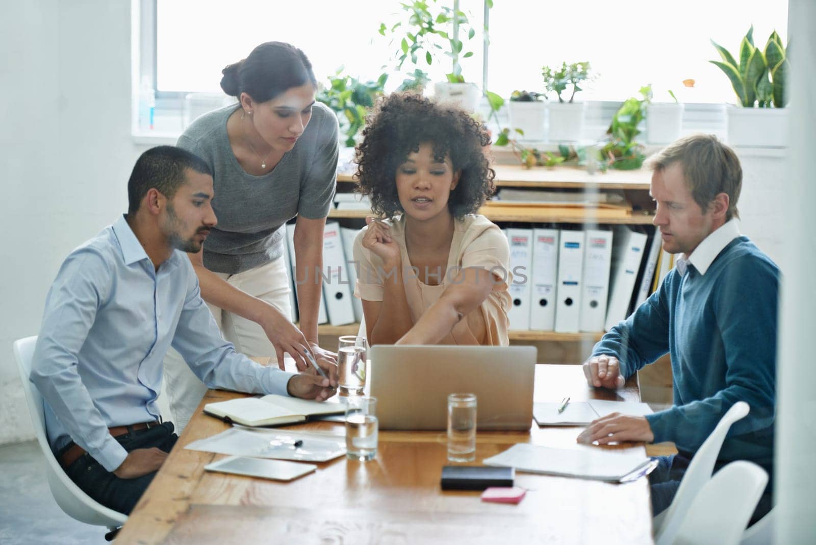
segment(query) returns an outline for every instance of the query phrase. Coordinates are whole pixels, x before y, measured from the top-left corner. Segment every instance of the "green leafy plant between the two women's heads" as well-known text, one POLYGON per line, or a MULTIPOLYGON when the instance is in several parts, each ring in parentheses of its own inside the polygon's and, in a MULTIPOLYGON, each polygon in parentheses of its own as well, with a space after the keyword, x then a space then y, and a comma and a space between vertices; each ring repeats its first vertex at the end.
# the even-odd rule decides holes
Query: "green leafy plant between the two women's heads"
POLYGON ((361 82, 344 75, 343 70, 341 66, 329 77, 328 86, 320 84, 316 100, 337 113, 340 131, 346 135, 345 144, 353 147, 357 133, 366 124, 366 114, 383 94, 388 74, 380 75, 376 81, 361 82))

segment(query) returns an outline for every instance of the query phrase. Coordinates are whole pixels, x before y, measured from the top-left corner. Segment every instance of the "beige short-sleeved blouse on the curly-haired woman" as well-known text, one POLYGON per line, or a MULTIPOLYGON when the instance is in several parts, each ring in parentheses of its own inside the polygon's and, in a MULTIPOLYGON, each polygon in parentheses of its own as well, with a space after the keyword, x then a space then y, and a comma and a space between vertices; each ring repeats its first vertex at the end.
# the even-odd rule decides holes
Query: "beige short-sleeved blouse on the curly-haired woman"
MULTIPOLYGON (((501 229, 483 215, 466 215, 454 222, 454 237, 450 242, 447 271, 441 272, 441 282, 431 286, 419 281, 424 272, 411 269, 406 250, 405 217, 388 220, 391 235, 402 252, 403 279, 411 319, 416 323, 442 295, 459 274, 459 268, 485 268, 493 272, 493 290, 479 308, 459 321, 440 344, 508 345, 508 310, 511 305, 508 286, 509 247, 501 229)), ((394 281, 395 275, 385 271, 383 260, 362 246, 364 227, 354 239, 354 260, 357 262, 357 284, 354 295, 366 301, 382 301, 384 283, 394 281)), ((437 271, 430 271, 436 273, 437 271)))

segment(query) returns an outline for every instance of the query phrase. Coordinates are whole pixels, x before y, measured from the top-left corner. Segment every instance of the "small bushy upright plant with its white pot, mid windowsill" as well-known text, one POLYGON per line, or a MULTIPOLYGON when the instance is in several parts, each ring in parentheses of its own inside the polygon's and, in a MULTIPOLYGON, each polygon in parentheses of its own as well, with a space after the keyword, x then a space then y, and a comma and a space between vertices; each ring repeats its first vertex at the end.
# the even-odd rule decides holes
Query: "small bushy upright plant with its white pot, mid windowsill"
POLYGON ((576 142, 583 133, 583 114, 586 103, 574 102, 580 85, 590 79, 587 61, 573 64, 561 63, 560 68, 543 66, 541 75, 548 93, 554 92, 557 102, 549 104, 549 135, 551 142, 576 142), (564 100, 561 93, 571 87, 570 99, 564 100))

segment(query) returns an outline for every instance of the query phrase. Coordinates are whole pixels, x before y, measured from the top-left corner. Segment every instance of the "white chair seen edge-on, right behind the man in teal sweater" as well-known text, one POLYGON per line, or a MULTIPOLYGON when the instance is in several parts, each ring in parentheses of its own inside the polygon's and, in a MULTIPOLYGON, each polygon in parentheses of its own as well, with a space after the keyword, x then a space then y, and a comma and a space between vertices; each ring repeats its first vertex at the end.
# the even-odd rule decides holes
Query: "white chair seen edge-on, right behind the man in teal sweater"
POLYGON ((725 441, 725 434, 731 428, 731 425, 739 419, 748 414, 748 404, 745 401, 737 401, 726 412, 717 423, 711 435, 703 441, 699 450, 691 459, 689 467, 685 470, 683 478, 680 481, 680 487, 672 499, 672 504, 666 511, 660 513, 652 519, 652 531, 654 532, 655 541, 666 540, 666 543, 672 543, 672 539, 677 533, 678 525, 683 520, 685 513, 688 512, 694 497, 703 488, 711 478, 714 472, 714 464, 717 456, 720 454, 723 441, 725 441))

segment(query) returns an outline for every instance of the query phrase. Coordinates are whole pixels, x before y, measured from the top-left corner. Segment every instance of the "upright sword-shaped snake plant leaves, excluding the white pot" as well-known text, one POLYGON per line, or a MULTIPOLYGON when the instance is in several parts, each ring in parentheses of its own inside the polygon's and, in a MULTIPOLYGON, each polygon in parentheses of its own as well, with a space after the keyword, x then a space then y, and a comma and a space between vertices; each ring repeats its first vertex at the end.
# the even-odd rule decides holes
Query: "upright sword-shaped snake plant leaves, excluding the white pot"
MULTIPOLYGON (((754 27, 739 44, 739 62, 730 52, 712 40, 722 60, 710 60, 728 76, 738 103, 744 108, 783 108, 787 103, 785 86, 791 71, 787 48, 774 30, 765 43, 765 51, 754 45, 754 27)), ((788 44, 790 47, 790 44, 788 44)))

